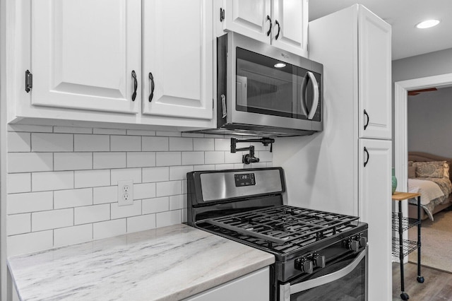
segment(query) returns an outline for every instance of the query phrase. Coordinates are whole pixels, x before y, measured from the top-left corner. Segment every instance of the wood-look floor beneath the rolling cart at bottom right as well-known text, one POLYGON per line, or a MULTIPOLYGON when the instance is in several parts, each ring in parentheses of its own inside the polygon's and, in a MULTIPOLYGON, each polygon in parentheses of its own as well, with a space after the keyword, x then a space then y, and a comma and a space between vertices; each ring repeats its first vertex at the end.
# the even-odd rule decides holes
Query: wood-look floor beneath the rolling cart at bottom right
MULTIPOLYGON (((452 300, 452 273, 445 273, 433 268, 421 267, 424 283, 418 283, 417 264, 405 264, 405 293, 409 301, 452 300)), ((393 262, 393 300, 400 298, 400 264, 393 262)))

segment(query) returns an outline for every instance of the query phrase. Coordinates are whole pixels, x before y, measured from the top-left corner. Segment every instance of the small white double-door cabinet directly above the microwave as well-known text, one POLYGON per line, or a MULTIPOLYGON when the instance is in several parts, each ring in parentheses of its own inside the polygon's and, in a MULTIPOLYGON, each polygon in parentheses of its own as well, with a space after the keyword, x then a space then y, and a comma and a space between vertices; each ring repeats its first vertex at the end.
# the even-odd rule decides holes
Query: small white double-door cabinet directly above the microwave
POLYGON ((307 57, 307 0, 223 0, 219 5, 222 30, 307 57))

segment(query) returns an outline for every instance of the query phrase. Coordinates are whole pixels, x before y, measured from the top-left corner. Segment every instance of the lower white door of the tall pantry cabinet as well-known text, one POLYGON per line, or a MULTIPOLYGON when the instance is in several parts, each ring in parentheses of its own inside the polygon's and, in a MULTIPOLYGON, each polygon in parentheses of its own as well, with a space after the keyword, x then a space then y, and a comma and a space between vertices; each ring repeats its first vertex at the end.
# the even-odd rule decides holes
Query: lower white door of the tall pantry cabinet
POLYGON ((369 301, 391 300, 392 142, 359 139, 358 144, 359 218, 369 224, 369 301))

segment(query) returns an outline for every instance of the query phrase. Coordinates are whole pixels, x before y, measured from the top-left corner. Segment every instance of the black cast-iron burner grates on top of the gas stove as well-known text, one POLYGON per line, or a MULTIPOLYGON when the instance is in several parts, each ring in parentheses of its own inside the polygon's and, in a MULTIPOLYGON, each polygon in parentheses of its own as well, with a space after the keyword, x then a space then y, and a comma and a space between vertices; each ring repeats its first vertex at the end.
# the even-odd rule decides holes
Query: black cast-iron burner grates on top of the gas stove
POLYGON ((240 240, 263 245, 277 252, 290 252, 304 245, 350 229, 355 216, 292 206, 263 208, 203 220, 240 240), (230 230, 230 231, 228 231, 230 230))

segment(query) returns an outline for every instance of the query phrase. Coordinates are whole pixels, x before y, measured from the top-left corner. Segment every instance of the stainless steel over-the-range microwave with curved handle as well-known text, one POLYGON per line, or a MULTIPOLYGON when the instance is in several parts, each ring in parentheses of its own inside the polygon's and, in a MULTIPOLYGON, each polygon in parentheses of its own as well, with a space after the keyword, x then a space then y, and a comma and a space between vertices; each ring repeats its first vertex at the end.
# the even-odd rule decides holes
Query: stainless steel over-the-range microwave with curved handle
POLYGON ((322 125, 323 65, 227 33, 217 39, 218 134, 300 136, 322 125))

